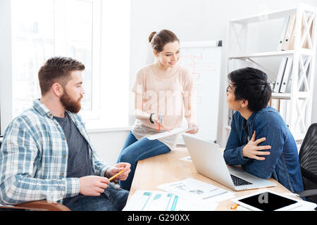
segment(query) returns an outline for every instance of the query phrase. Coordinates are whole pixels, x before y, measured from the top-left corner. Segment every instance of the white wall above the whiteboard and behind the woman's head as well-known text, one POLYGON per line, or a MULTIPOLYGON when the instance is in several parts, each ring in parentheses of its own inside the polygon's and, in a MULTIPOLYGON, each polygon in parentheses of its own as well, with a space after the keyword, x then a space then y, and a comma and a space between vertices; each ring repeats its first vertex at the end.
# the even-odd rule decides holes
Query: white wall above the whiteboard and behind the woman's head
MULTIPOLYGON (((262 11, 297 7, 299 2, 317 6, 316 0, 133 0, 131 4, 130 86, 136 70, 148 62, 150 51, 148 37, 151 32, 162 29, 172 30, 178 35, 180 41, 222 39, 223 77, 220 81, 218 142, 220 146, 225 146, 226 138, 221 134, 223 104, 226 104, 224 72, 228 21, 262 11)), ((276 27, 272 28, 276 29, 276 27)), ((317 84, 317 78, 315 83, 317 84)), ((317 98, 313 100, 313 112, 317 112, 317 98)), ((313 113, 313 122, 317 122, 316 113, 313 113)))

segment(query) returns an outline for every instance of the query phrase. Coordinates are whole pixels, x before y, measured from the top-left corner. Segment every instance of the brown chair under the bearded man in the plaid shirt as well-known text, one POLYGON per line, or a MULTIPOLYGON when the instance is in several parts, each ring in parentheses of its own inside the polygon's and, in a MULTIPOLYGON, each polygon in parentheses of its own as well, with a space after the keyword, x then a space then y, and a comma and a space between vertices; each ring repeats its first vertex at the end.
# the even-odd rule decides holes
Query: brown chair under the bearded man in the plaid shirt
MULTIPOLYGON (((0 148, 3 137, 0 136, 0 148)), ((35 211, 70 211, 61 203, 47 203, 46 200, 38 200, 16 205, 0 205, 0 211, 35 210, 35 211)))

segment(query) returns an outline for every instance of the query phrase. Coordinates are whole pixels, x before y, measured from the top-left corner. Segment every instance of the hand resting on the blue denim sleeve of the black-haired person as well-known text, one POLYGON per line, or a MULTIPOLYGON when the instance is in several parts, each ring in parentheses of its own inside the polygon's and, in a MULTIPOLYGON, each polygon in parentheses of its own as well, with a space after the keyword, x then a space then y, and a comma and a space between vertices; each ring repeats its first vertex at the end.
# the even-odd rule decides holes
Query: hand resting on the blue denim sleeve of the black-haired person
POLYGON ((266 141, 266 138, 256 140, 256 134, 254 131, 252 139, 242 148, 242 156, 254 160, 265 160, 266 158, 259 157, 258 155, 270 155, 270 152, 263 152, 261 150, 271 149, 271 146, 258 146, 259 143, 263 141, 266 141))

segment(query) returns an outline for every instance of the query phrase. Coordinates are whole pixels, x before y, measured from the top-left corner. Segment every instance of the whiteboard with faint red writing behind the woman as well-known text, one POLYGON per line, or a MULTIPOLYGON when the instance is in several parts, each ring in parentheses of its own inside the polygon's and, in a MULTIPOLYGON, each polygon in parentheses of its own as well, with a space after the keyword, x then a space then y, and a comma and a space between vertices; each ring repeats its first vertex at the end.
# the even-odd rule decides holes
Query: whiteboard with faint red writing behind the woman
MULTIPOLYGON (((221 68, 221 41, 180 42, 180 65, 192 71, 196 95, 197 136, 206 141, 217 140, 221 68)), ((183 124, 187 124, 185 118, 183 124)), ((180 144, 184 144, 180 137, 180 144)))

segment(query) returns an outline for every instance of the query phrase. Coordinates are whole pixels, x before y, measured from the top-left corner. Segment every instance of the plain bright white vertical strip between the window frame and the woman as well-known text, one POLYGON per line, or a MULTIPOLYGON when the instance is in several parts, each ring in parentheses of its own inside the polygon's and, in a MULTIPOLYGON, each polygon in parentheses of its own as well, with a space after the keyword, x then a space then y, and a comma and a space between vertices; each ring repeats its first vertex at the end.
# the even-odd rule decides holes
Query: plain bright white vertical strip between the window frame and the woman
POLYGON ((128 127, 130 1, 103 1, 102 12, 100 105, 104 120, 99 127, 128 127))

